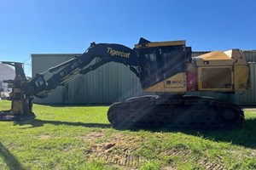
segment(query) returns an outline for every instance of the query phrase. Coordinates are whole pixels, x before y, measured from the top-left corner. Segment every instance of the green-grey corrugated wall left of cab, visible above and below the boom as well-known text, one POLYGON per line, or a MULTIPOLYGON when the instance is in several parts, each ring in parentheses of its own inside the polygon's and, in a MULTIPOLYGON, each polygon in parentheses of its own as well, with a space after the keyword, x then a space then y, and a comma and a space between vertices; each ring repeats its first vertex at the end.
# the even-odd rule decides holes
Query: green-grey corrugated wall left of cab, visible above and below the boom
MULTIPOLYGON (((47 71, 77 54, 32 54, 32 76, 47 71)), ((40 104, 111 104, 134 96, 145 95, 139 79, 128 67, 110 62, 90 71, 64 87, 58 87, 40 104)))

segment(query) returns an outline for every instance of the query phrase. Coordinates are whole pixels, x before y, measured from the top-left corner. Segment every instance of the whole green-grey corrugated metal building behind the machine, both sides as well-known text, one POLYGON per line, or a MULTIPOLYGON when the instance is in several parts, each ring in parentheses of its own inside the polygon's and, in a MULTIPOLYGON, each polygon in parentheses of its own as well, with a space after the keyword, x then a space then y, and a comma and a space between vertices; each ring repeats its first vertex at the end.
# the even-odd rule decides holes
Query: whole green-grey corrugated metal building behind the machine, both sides
MULTIPOLYGON (((207 52, 193 52, 193 56, 207 52)), ((250 89, 245 94, 193 93, 215 99, 228 100, 241 105, 256 105, 256 51, 244 51, 250 65, 250 89)), ((32 76, 47 71, 79 54, 32 54, 32 76)), ((46 99, 35 99, 38 104, 112 104, 143 93, 139 79, 125 65, 110 62, 96 71, 58 87, 46 99)))

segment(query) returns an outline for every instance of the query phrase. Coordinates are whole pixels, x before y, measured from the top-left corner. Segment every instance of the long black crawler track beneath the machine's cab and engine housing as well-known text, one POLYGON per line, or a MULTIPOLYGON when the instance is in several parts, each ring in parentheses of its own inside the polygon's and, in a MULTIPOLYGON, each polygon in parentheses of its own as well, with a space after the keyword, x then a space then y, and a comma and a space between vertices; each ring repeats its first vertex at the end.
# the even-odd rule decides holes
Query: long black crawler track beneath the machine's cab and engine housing
POLYGON ((116 128, 236 127, 244 121, 244 114, 239 105, 216 99, 152 95, 111 105, 108 121, 116 128))

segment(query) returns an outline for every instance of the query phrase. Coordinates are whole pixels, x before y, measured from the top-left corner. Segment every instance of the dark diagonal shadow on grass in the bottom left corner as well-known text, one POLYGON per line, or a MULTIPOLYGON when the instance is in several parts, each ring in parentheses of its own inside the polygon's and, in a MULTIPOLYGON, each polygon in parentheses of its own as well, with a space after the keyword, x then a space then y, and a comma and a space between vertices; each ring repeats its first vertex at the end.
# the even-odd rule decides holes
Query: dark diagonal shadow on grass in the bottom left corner
POLYGON ((0 156, 3 157, 3 160, 5 161, 9 169, 24 169, 24 167, 22 167, 22 165, 20 164, 20 161, 18 161, 17 158, 12 153, 10 153, 10 151, 5 146, 3 146, 3 144, 1 144, 1 142, 0 156))

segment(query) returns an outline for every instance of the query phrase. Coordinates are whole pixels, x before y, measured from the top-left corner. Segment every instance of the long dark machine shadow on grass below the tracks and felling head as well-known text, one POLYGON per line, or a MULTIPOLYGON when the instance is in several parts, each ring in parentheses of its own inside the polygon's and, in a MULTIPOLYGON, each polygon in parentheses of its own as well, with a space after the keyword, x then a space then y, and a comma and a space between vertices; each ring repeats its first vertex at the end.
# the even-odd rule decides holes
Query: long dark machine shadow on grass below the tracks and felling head
MULTIPOLYGON (((111 128, 111 124, 104 123, 86 123, 86 122, 61 122, 61 121, 45 121, 45 120, 28 120, 15 122, 15 125, 31 125, 32 127, 42 127, 44 124, 52 125, 68 125, 68 126, 81 126, 81 127, 100 127, 100 128, 111 128)), ((32 128, 25 127, 25 128, 32 128)), ((227 142, 231 144, 241 145, 247 148, 256 149, 256 119, 245 120, 243 125, 230 128, 230 129, 198 129, 198 128, 173 128, 173 127, 158 127, 158 128, 145 128, 145 127, 126 127, 123 130, 140 131, 147 130, 151 132, 160 133, 184 133, 189 135, 194 135, 196 137, 212 140, 215 142, 227 142)))

